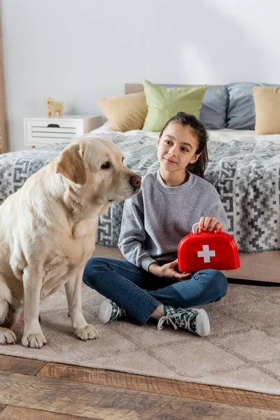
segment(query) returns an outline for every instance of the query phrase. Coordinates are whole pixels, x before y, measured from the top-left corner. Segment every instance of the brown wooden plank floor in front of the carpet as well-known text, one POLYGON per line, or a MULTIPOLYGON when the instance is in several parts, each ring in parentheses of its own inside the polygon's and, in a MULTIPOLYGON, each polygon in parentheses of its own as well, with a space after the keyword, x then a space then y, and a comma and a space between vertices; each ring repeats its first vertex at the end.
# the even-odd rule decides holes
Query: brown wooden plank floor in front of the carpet
POLYGON ((272 420, 280 397, 0 356, 0 420, 35 419, 272 420))

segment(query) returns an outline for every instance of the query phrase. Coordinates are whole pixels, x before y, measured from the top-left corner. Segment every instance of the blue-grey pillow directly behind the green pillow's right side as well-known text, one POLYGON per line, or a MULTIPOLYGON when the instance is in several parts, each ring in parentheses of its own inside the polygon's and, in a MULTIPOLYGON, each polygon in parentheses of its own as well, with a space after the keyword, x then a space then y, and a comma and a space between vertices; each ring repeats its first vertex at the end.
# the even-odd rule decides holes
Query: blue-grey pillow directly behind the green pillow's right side
MULTIPOLYGON (((161 85, 163 87, 181 87, 179 85, 161 85)), ((227 109, 229 103, 228 88, 226 86, 208 87, 202 99, 200 121, 207 130, 220 130, 227 123, 227 109)))

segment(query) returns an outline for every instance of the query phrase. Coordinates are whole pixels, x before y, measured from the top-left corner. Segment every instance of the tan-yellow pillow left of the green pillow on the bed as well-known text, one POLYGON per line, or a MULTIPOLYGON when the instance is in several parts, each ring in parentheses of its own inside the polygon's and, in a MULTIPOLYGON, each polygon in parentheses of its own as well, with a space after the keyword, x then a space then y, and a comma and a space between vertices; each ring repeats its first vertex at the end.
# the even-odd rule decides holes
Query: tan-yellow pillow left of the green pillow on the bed
POLYGON ((148 113, 144 92, 98 99, 97 105, 108 118, 112 129, 121 132, 141 130, 148 113))

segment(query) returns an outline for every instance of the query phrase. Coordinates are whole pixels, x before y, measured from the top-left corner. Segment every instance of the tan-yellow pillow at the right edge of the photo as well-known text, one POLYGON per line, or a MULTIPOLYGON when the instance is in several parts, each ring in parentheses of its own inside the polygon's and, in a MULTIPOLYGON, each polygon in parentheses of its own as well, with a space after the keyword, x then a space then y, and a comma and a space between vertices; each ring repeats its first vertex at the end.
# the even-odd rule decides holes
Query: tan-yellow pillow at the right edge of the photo
POLYGON ((253 87, 255 134, 280 134, 280 87, 253 87))

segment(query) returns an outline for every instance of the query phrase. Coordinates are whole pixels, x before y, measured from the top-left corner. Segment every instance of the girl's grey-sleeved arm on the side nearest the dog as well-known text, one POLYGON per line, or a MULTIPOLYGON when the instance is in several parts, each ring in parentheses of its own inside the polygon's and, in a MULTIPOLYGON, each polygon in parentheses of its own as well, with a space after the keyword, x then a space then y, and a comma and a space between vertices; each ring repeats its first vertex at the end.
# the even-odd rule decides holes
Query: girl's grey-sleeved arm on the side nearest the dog
POLYGON ((125 200, 118 246, 128 261, 148 271, 149 265, 155 260, 146 251, 145 240, 144 204, 140 191, 134 197, 125 200))

